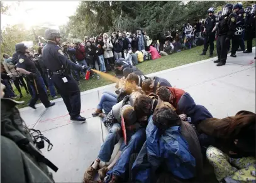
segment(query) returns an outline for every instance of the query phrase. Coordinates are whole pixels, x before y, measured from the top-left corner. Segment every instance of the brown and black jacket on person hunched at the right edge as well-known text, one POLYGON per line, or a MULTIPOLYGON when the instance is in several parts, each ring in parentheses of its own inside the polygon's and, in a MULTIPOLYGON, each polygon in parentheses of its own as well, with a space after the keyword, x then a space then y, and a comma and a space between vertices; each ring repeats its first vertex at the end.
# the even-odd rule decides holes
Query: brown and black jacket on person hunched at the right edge
POLYGON ((234 117, 208 118, 199 123, 197 130, 214 137, 214 146, 226 154, 233 151, 237 153, 234 158, 247 157, 255 155, 255 123, 256 114, 242 110, 234 117))

